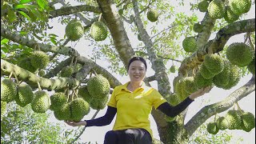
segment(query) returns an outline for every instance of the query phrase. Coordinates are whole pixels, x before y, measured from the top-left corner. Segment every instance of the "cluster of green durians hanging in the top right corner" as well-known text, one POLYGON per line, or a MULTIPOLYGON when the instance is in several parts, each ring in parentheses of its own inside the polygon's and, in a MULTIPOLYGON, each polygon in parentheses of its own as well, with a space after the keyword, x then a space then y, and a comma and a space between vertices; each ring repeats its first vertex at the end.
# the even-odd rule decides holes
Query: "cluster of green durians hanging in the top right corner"
POLYGON ((246 14, 250 10, 251 0, 212 0, 210 2, 202 0, 198 3, 198 10, 208 11, 211 18, 224 18, 226 22, 238 20, 241 14, 246 14))

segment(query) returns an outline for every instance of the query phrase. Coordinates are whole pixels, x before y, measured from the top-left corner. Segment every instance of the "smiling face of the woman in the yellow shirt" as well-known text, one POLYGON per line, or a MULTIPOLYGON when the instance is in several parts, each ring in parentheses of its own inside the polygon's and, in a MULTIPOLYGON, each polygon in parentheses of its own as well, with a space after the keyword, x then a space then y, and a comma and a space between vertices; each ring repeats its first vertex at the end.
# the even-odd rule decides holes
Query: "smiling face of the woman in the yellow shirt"
POLYGON ((146 66, 139 60, 131 62, 128 74, 130 76, 130 82, 142 82, 146 75, 146 66))

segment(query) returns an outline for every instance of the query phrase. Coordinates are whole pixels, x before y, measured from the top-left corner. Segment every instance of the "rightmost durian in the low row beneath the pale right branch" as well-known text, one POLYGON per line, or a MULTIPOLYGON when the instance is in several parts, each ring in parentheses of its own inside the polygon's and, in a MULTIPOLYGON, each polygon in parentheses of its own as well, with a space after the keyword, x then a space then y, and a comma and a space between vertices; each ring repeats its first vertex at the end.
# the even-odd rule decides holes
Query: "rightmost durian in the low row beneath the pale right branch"
POLYGON ((255 127, 255 118, 254 114, 250 112, 245 112, 241 115, 242 118, 242 130, 246 132, 250 132, 250 130, 254 129, 255 127))

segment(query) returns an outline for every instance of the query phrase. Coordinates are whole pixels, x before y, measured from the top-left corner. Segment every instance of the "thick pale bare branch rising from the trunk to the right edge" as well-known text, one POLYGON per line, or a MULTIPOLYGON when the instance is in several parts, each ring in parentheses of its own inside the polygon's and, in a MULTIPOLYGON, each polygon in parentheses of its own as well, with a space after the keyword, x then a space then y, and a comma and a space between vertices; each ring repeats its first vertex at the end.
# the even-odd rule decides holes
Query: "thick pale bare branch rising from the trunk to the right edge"
POLYGON ((238 90, 235 90, 222 102, 217 102, 209 106, 203 107, 185 125, 185 129, 189 136, 191 136, 194 133, 194 131, 197 130, 198 127, 202 125, 203 122, 206 122, 208 118, 210 118, 214 114, 228 110, 231 106, 234 105, 235 102, 238 102, 240 99, 245 98, 248 94, 252 93, 253 91, 255 91, 255 76, 253 76, 250 79, 250 81, 247 82, 244 86, 240 87, 238 90))

